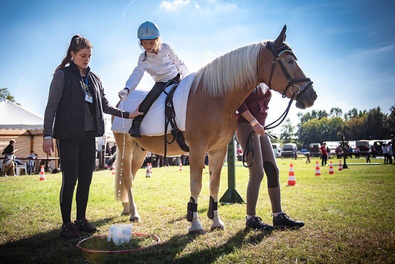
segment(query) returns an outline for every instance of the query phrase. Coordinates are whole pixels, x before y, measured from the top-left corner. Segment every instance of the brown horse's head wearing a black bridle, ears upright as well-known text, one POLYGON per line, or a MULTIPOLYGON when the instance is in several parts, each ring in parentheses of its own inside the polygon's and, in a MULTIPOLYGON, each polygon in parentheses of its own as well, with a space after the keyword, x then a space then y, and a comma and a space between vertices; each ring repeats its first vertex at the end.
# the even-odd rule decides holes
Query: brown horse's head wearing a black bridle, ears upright
MULTIPOLYGON (((297 63, 297 57, 285 42, 286 25, 274 41, 268 41, 262 51, 266 56, 273 58, 272 62, 266 60, 262 76, 270 89, 282 93, 283 98, 294 98, 296 107, 305 109, 311 107, 317 99, 313 82, 307 78, 297 63), (270 66, 269 66, 270 63, 270 66), (270 68, 270 71, 268 70, 270 68)), ((262 57, 266 57, 266 56, 262 57)))

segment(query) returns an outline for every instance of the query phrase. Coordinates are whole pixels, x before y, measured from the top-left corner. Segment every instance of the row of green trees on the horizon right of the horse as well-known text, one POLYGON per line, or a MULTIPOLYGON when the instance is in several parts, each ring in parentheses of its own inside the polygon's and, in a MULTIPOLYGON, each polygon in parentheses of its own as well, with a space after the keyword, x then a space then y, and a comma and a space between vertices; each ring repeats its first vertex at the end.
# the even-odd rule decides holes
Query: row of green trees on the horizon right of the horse
POLYGON ((310 143, 340 140, 342 134, 346 140, 389 139, 389 135, 395 134, 395 104, 389 111, 385 114, 380 107, 368 111, 353 108, 343 113, 334 107, 329 113, 325 110, 298 113, 300 123, 296 127, 289 118, 284 121, 280 141, 308 148, 310 143))

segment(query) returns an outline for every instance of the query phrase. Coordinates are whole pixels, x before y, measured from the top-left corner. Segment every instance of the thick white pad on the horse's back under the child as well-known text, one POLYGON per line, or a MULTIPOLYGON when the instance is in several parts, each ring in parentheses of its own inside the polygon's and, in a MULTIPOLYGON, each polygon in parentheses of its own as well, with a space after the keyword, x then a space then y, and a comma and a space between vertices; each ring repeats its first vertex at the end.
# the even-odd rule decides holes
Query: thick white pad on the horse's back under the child
MULTIPOLYGON (((173 104, 175 111, 175 122, 177 123, 178 128, 181 131, 185 131, 185 120, 186 120, 186 104, 188 103, 188 96, 190 86, 195 77, 195 73, 191 73, 185 76, 181 82, 178 84, 177 89, 174 92, 173 96, 173 104)), ((169 92, 171 87, 170 85, 166 88, 166 92, 169 92)), ((137 106, 143 102, 144 98, 147 96, 147 91, 142 90, 134 90, 132 91, 127 100, 122 102, 123 110, 128 112, 134 112, 137 106)), ((140 126, 140 133, 146 136, 160 136, 164 135, 164 104, 165 104, 166 95, 162 93, 158 99, 152 104, 150 110, 145 115, 143 121, 140 126)), ((121 109, 121 104, 118 106, 121 109)), ((111 126, 111 130, 118 133, 128 133, 130 127, 132 126, 133 119, 123 119, 125 130, 122 126, 122 118, 115 117, 114 122, 111 126)), ((167 133, 170 133, 171 126, 167 129, 167 133)))

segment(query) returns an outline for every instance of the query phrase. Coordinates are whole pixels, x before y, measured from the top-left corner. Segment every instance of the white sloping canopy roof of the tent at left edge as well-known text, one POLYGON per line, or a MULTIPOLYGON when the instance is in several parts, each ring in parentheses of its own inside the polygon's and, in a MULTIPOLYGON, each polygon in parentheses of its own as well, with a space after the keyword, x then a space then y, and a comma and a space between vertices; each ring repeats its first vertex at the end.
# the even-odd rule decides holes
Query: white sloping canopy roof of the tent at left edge
POLYGON ((43 133, 44 117, 7 99, 0 102, 0 113, 0 135, 41 135, 43 133))

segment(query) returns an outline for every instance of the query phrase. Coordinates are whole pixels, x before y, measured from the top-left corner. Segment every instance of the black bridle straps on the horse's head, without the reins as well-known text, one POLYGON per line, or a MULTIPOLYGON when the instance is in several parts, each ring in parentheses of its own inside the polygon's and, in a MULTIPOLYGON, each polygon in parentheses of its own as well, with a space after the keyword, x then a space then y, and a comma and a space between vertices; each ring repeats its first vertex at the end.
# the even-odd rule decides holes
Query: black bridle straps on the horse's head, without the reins
POLYGON ((278 64, 280 65, 282 72, 284 73, 286 79, 288 80, 288 84, 286 85, 284 91, 282 92, 282 98, 286 97, 286 91, 288 90, 288 87, 289 87, 289 91, 292 94, 292 100, 295 95, 298 95, 298 99, 299 99, 303 95, 303 93, 305 93, 305 91, 309 88, 309 86, 313 84, 312 80, 310 78, 296 78, 296 79, 291 78, 291 76, 289 75, 288 71, 286 70, 284 64, 280 60, 280 56, 284 52, 289 52, 292 54, 292 56, 295 58, 295 60, 298 60, 298 58, 295 56, 295 54, 293 54, 292 49, 287 44, 283 43, 280 47, 276 48, 276 47, 274 47, 274 44, 269 41, 266 43, 266 47, 270 48, 270 51, 273 53, 273 56, 274 56, 273 62, 271 64, 272 66, 271 66, 269 85, 268 85, 269 88, 270 88, 270 84, 271 84, 271 77, 273 76, 274 66, 276 65, 276 61, 277 61, 278 64), (303 91, 301 91, 301 88, 299 87, 299 85, 295 84, 295 83, 301 82, 301 81, 309 81, 309 84, 306 85, 306 87, 303 91), (297 87, 296 91, 292 91, 293 87, 297 87))

